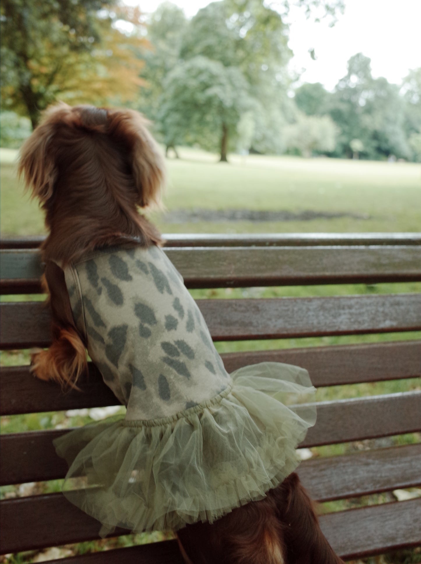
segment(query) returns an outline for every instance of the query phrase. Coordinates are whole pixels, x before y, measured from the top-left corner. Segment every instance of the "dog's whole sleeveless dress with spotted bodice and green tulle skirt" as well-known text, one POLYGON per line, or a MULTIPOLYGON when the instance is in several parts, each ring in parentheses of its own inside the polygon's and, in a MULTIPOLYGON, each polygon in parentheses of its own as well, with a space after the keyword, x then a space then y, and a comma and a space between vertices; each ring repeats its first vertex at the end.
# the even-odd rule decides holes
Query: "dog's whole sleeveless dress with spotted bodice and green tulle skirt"
POLYGON ((213 522, 293 472, 316 420, 307 371, 268 362, 228 374, 157 246, 100 250, 64 273, 88 354, 126 406, 54 442, 65 496, 101 534, 213 522))

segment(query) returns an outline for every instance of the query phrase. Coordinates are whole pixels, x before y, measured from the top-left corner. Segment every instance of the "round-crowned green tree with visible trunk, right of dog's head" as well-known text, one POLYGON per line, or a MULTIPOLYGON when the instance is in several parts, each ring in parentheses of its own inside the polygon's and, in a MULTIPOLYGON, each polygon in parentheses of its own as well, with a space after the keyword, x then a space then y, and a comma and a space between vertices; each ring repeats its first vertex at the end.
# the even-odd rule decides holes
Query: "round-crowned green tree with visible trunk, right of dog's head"
POLYGON ((159 101, 159 121, 167 146, 175 140, 219 147, 227 161, 237 124, 251 107, 240 70, 198 56, 180 63, 166 77, 159 101))

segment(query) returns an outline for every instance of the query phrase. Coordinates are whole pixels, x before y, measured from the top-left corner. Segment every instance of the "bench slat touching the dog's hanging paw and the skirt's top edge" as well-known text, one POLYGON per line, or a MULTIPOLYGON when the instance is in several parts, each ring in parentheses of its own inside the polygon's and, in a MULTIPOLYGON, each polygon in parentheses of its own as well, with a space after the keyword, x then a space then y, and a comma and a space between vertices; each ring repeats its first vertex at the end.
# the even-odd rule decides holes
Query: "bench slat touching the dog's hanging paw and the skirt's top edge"
MULTIPOLYGON (((229 352, 221 356, 230 373, 259 362, 302 366, 308 369, 316 387, 421 377, 421 341, 229 352)), ((54 383, 34 378, 29 366, 1 368, 0 415, 117 405, 116 396, 94 365, 90 363, 89 368, 89 376, 78 382, 82 391, 67 393, 54 383)))

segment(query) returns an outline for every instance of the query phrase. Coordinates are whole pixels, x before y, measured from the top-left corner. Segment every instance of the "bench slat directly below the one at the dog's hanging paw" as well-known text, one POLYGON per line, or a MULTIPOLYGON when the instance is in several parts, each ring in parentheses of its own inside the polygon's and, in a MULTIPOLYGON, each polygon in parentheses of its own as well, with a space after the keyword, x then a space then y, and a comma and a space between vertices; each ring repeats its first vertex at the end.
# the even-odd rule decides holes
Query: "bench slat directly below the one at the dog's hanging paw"
MULTIPOLYGON (((317 422, 302 447, 413 433, 421 429, 421 391, 317 404, 317 422)), ((52 440, 68 430, 4 434, 1 485, 63 478, 67 465, 52 440)))

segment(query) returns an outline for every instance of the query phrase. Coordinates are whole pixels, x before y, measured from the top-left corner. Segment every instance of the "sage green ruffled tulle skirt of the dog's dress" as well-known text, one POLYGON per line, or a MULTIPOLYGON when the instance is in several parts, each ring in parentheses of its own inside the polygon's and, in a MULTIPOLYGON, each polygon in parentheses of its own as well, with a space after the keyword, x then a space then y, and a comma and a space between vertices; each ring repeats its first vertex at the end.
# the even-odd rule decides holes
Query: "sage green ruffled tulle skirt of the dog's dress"
POLYGON ((314 391, 302 368, 255 364, 174 417, 119 416, 72 431, 55 440, 70 465, 64 495, 103 524, 103 535, 213 522, 293 472, 295 447, 316 421, 314 391))

